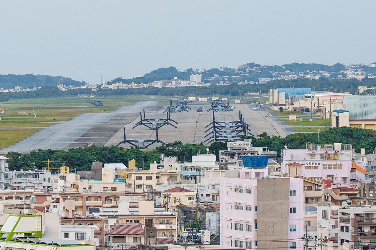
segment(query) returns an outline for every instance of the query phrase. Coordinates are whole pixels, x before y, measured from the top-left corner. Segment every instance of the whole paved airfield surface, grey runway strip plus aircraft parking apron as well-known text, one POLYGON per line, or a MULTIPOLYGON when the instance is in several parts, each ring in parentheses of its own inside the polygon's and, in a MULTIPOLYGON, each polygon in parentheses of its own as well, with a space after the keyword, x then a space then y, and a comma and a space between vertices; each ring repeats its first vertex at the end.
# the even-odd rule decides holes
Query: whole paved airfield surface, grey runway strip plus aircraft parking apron
MULTIPOLYGON (((183 143, 204 142, 205 126, 212 121, 212 112, 206 110, 209 105, 202 103, 189 104, 192 110, 188 113, 171 113, 171 119, 179 124, 174 128, 170 125, 163 126, 159 131, 159 139, 165 143, 181 141, 183 143), (206 108, 198 113, 194 108, 206 108), (196 123, 197 121, 197 123, 196 123)), ((163 104, 159 102, 135 102, 110 113, 80 114, 71 120, 60 122, 50 127, 43 127, 24 140, 12 146, 1 149, 0 154, 10 151, 26 153, 32 149, 70 149, 86 147, 89 145, 117 145, 123 140, 123 126, 125 125, 127 139, 155 139, 155 130, 144 126, 131 129, 139 120, 139 112, 144 108, 147 118, 165 118, 163 104)), ((264 116, 264 111, 253 110, 247 104, 233 105, 232 112, 215 112, 216 120, 238 120, 239 110, 243 113, 244 121, 250 125, 253 135, 267 132, 270 136, 287 136, 286 131, 270 117, 264 116)), ((149 148, 161 145, 155 143, 149 148)), ((128 148, 130 145, 122 144, 128 148)))

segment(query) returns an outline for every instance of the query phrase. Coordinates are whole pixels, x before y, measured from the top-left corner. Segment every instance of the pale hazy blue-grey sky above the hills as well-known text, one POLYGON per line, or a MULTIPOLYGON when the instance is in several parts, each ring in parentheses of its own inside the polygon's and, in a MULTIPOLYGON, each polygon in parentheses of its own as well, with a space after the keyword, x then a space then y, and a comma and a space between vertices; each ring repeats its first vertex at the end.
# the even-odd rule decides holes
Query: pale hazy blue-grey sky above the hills
POLYGON ((153 69, 376 61, 376 1, 0 2, 0 74, 100 82, 153 69))

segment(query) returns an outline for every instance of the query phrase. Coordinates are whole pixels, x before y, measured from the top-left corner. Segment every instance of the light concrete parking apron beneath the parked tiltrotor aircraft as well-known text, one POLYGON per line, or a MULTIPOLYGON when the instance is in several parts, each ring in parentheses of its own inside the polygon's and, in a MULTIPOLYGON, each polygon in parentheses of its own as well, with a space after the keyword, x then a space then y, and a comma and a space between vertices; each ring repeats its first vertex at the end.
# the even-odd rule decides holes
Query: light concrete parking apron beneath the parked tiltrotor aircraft
MULTIPOLYGON (((197 105, 190 104, 190 107, 196 107, 197 105)), ((206 108, 209 108, 209 105, 202 105, 206 108)), ((237 104, 233 105, 235 107, 232 112, 215 112, 216 120, 238 120, 239 110, 243 113, 244 121, 249 123, 250 129, 252 130, 253 135, 261 134, 262 132, 267 132, 269 135, 273 136, 287 136, 287 133, 278 125, 277 122, 273 121, 270 117, 264 117, 264 111, 252 110, 249 105, 246 104, 237 104)), ((155 110, 149 111, 146 110, 146 117, 154 118, 164 118, 166 116, 163 111, 165 107, 160 108, 158 111, 155 110)), ((165 125, 159 131, 159 139, 165 143, 171 143, 175 141, 181 141, 183 143, 200 143, 206 140, 205 136, 205 126, 212 121, 212 112, 207 112, 204 110, 201 113, 198 113, 196 110, 191 110, 188 112, 182 113, 171 113, 171 119, 176 120, 179 124, 176 125, 177 128, 174 128, 169 125, 165 125), (197 123, 196 123, 197 121, 197 123)), ((135 119, 133 122, 126 124, 126 134, 127 139, 137 139, 137 140, 146 140, 154 139, 156 136, 155 130, 150 130, 147 127, 139 126, 131 129, 138 119, 135 119)), ((116 145, 118 142, 123 140, 123 130, 119 130, 108 142, 106 145, 116 145)), ((155 143, 150 146, 150 148, 155 148, 161 144, 155 143)), ((128 144, 121 146, 129 147, 128 144)))

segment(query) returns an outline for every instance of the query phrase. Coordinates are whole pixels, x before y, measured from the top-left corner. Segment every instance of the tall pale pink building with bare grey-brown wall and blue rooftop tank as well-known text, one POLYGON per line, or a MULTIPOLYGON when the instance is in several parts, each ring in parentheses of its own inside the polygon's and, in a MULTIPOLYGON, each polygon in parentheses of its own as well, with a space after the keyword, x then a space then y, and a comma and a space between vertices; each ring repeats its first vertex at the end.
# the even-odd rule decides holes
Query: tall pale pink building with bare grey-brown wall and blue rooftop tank
POLYGON ((220 179, 221 247, 302 248, 303 179, 266 178, 267 157, 247 157, 259 160, 220 179))

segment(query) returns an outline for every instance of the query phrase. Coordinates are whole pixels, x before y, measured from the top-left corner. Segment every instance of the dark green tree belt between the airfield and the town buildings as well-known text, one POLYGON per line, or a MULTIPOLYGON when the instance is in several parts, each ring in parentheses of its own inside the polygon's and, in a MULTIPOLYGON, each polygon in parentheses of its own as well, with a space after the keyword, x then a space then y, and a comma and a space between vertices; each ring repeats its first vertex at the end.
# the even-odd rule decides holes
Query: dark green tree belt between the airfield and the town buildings
MULTIPOLYGON (((261 133, 256 137, 249 136, 244 139, 252 139, 253 146, 267 146, 270 151, 277 151, 280 156, 281 149, 288 146, 291 149, 305 148, 306 143, 333 144, 343 143, 352 144, 355 152, 360 152, 361 148, 366 149, 366 153, 376 152, 376 131, 361 128, 332 128, 317 133, 299 133, 290 134, 287 137, 269 136, 267 133, 261 133), (318 137, 317 137, 318 136, 318 137), (318 139, 318 141, 317 141, 318 139)), ((182 142, 169 143, 158 148, 143 153, 137 147, 124 149, 116 146, 90 146, 86 148, 71 148, 68 151, 54 149, 35 149, 27 154, 18 152, 9 152, 9 170, 27 170, 33 169, 34 163, 36 169, 47 168, 47 159, 50 160, 51 167, 59 167, 62 164, 75 170, 90 170, 93 161, 102 161, 103 163, 123 163, 128 166, 128 160, 135 159, 136 166, 149 169, 149 164, 154 161, 159 162, 161 154, 165 157, 177 157, 180 162, 191 161, 192 155, 206 154, 206 148, 210 153, 218 155, 220 150, 225 150, 226 143, 214 142, 209 146, 200 144, 183 144, 182 142), (143 156, 144 154, 144 156, 143 156), (144 158, 144 159, 143 159, 144 158), (35 162, 34 162, 35 161, 35 162)))

